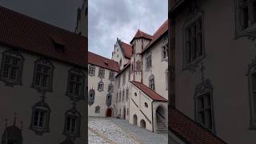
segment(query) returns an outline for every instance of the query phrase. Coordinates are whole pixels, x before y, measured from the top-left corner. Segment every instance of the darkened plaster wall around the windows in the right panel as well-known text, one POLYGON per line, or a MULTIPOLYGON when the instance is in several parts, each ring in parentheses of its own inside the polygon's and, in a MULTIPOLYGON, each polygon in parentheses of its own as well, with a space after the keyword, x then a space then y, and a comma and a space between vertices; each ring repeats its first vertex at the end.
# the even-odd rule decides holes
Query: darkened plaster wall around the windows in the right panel
MULTIPOLYGON (((250 105, 246 71, 256 55, 255 42, 234 39, 234 1, 198 1, 204 11, 205 77, 210 78, 216 134, 227 143, 253 144, 256 131, 250 127, 250 105), (216 10, 218 7, 218 10, 216 10)), ((182 71, 182 26, 188 10, 175 18, 176 106, 194 119, 194 90, 201 72, 182 71)))

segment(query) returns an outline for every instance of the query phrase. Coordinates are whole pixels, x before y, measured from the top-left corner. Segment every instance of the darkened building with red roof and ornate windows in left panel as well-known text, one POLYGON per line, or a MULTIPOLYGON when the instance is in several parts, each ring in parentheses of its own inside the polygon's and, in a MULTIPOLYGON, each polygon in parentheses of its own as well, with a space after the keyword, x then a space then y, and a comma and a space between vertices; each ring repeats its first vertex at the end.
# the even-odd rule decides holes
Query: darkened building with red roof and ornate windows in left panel
POLYGON ((0 6, 2 144, 84 143, 87 39, 0 6))

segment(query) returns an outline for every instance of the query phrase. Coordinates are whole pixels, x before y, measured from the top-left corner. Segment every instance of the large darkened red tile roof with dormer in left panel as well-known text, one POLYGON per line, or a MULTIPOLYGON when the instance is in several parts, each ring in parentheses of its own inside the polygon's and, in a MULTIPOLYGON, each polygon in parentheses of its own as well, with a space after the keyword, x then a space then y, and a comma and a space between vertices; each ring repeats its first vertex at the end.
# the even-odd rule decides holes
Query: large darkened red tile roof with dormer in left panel
POLYGON ((0 6, 0 44, 86 66, 87 38, 0 6), (58 50, 54 42, 63 44, 58 50))

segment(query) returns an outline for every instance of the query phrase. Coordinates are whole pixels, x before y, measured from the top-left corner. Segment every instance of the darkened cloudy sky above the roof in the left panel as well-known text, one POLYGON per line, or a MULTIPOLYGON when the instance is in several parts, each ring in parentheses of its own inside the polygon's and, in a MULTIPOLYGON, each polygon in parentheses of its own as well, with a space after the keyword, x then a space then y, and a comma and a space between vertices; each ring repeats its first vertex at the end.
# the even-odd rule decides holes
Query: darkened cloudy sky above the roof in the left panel
POLYGON ((0 0, 0 6, 74 32, 82 0, 0 0))

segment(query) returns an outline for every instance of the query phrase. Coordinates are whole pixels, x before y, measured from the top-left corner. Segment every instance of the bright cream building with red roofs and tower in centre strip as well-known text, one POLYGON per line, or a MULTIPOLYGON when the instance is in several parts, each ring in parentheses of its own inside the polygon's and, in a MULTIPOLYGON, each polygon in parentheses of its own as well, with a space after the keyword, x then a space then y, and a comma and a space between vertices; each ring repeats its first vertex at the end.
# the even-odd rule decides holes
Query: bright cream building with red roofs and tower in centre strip
POLYGON ((106 71, 115 71, 114 82, 108 77, 96 78, 98 75, 93 73, 98 71, 99 67, 91 68, 90 64, 96 65, 96 59, 92 61, 89 56, 88 69, 92 78, 89 78, 88 93, 89 98, 95 97, 94 104, 89 106, 92 107, 89 110, 89 116, 120 117, 131 124, 145 127, 147 130, 166 132, 168 115, 167 28, 166 21, 153 35, 138 30, 130 44, 117 38, 111 58, 115 65, 114 69, 104 65, 104 61, 110 63, 109 59, 98 58, 98 61, 102 61, 101 68, 106 71), (103 91, 96 90, 101 82, 104 83, 103 91), (114 93, 107 90, 110 83, 114 85, 114 93), (96 90, 94 95, 90 93, 92 89, 96 90), (112 100, 110 106, 106 106, 109 104, 106 102, 108 96, 112 100), (100 114, 95 114, 98 112, 97 106, 101 107, 100 114), (108 113, 110 109, 111 115, 108 113))

